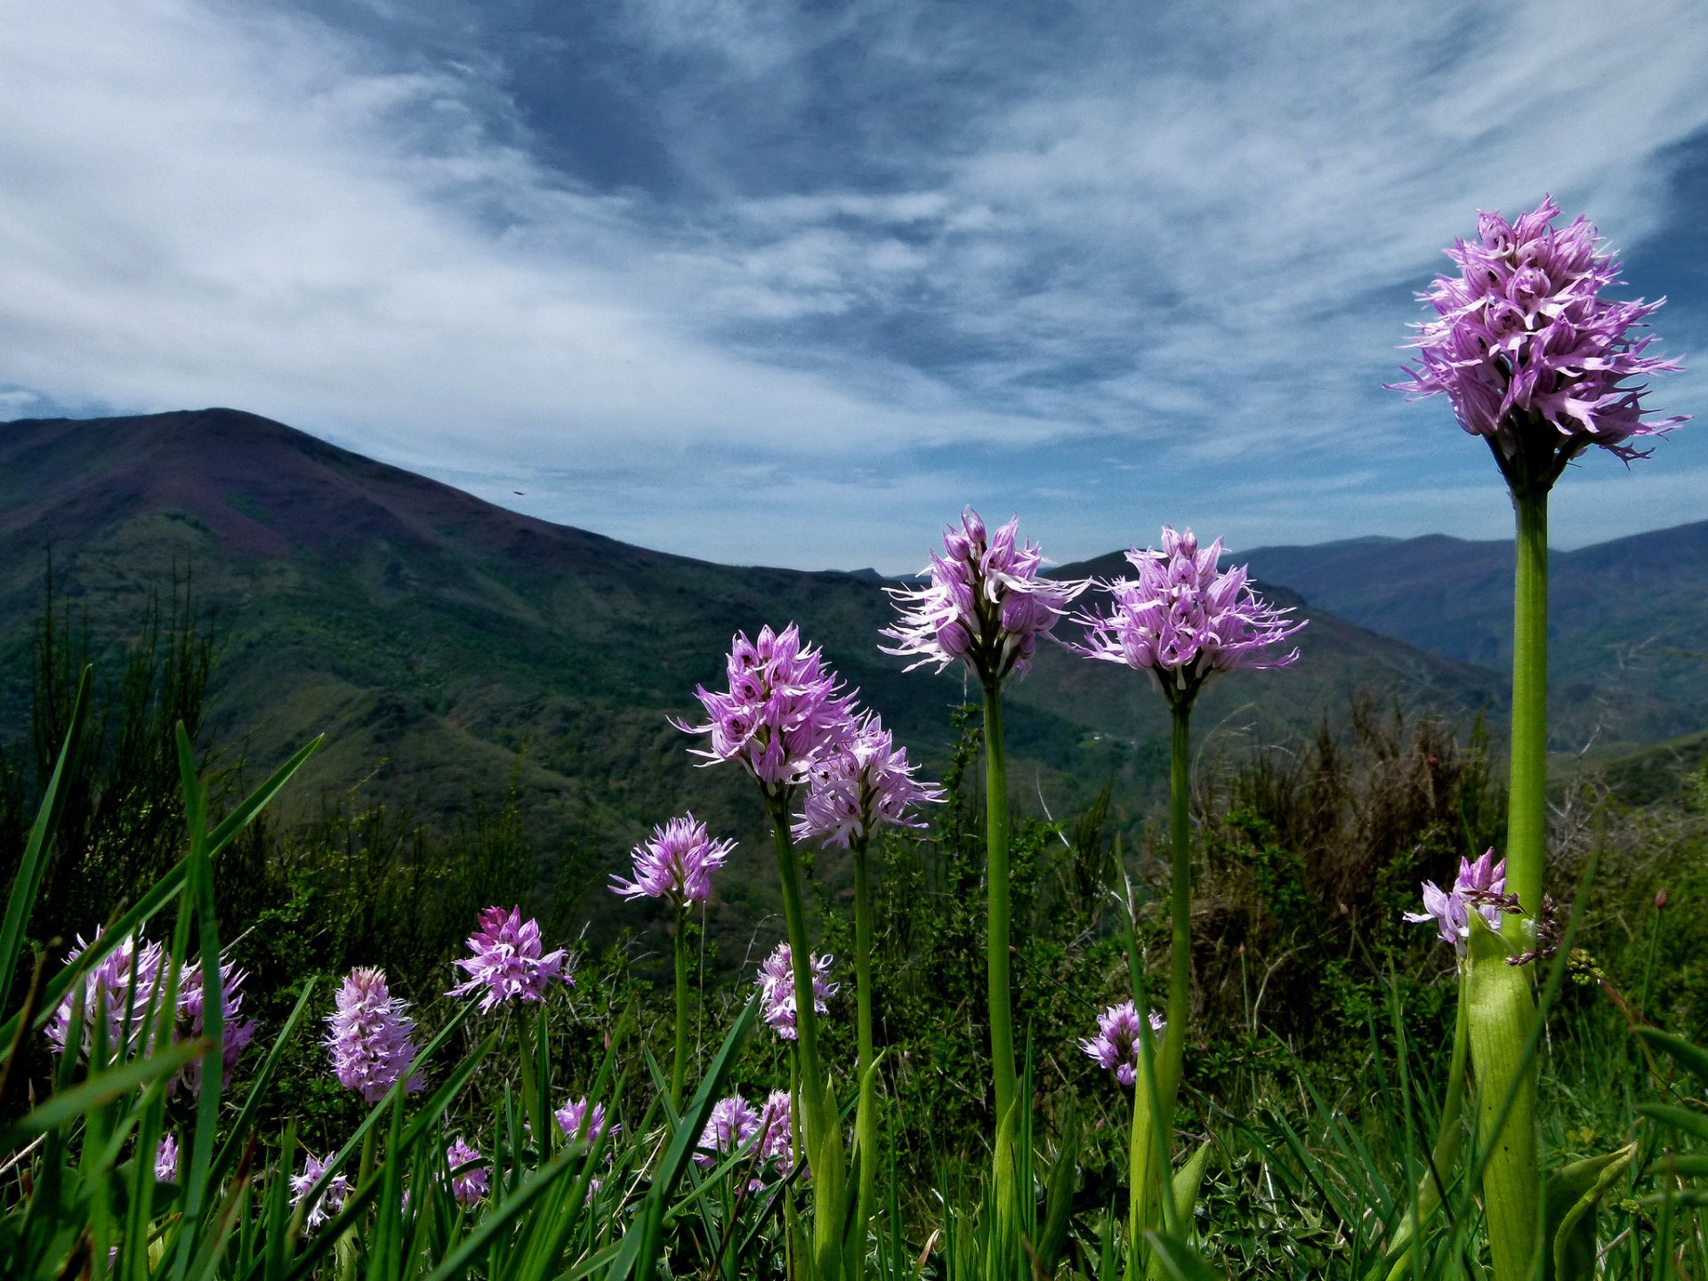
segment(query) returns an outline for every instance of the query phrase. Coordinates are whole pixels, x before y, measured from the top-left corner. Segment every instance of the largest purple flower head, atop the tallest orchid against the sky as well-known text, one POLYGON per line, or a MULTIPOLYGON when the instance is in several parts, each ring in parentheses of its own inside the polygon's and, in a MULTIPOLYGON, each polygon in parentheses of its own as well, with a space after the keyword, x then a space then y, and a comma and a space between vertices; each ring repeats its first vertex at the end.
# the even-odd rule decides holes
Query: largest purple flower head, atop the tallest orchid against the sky
POLYGON ((1612 254, 1588 219, 1556 229, 1553 196, 1506 222, 1477 215, 1477 236, 1454 241, 1459 275, 1440 275, 1419 299, 1436 319, 1419 325, 1416 367, 1394 384, 1413 400, 1445 395, 1459 425, 1484 437, 1513 485, 1544 490, 1588 446, 1623 459, 1647 451, 1628 444, 1684 418, 1645 420, 1645 386, 1626 379, 1681 369, 1643 355, 1653 335, 1633 328, 1665 299, 1616 302, 1602 290, 1619 280, 1612 254))

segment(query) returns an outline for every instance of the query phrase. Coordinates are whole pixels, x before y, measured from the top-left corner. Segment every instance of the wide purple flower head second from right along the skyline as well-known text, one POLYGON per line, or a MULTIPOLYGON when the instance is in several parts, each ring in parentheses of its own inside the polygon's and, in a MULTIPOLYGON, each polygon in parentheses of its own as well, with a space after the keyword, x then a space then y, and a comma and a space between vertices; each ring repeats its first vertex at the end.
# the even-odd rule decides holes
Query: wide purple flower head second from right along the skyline
POLYGON ((1199 548, 1192 531, 1163 526, 1163 550, 1127 552, 1136 579, 1108 584, 1108 613, 1074 617, 1086 627, 1076 654, 1149 671, 1170 704, 1197 695, 1216 671, 1284 668, 1298 649, 1274 654, 1272 646, 1305 622, 1278 610, 1252 591, 1243 567, 1216 570, 1221 540, 1199 548))

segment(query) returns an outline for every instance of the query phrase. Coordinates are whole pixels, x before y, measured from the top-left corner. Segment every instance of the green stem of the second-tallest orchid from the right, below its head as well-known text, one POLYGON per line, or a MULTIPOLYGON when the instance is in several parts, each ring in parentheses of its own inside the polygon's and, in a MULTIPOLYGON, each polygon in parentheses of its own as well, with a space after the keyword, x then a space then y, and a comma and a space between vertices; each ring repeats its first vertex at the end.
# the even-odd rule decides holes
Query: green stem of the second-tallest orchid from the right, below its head
MULTIPOLYGON (((1175 1100, 1180 1097, 1180 1066, 1185 1059, 1185 1025, 1192 1013, 1192 699, 1173 704, 1173 736, 1168 750, 1168 1027, 1156 1052, 1155 1112, 1134 1090, 1134 1124, 1131 1146, 1132 1202, 1129 1231, 1134 1240, 1156 1226, 1161 1197, 1168 1187, 1168 1160, 1173 1151, 1175 1100)), ((1148 1020, 1149 1011, 1139 1009, 1148 1020)))

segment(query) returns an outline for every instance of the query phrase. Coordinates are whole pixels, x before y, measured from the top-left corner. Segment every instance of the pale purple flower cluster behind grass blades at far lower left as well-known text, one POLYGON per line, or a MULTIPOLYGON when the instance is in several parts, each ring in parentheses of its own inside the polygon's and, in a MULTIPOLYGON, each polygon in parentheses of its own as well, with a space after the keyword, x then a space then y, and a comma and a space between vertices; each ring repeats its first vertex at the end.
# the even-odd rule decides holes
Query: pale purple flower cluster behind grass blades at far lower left
MULTIPOLYGON (((101 938, 96 927, 94 939, 85 941, 77 936, 77 945, 65 955, 65 963, 72 965, 101 938)), ((137 1049, 143 1023, 154 1015, 154 1006, 166 996, 167 970, 173 958, 166 948, 149 939, 126 934, 113 951, 102 956, 101 963, 84 975, 82 982, 72 987, 53 1015, 48 1016, 46 1035, 55 1054, 63 1054, 72 1030, 72 1013, 75 1003, 82 1001, 82 1052, 89 1054, 94 1045, 91 1021, 96 1009, 106 1009, 108 1045, 128 1044, 137 1049)), ((231 1073, 243 1057, 243 1050, 254 1040, 256 1023, 246 1020, 243 1013, 243 980, 246 974, 229 960, 220 960, 220 1013, 224 1015, 224 1033, 220 1044, 220 1061, 224 1064, 224 1081, 231 1081, 231 1073)), ((203 1032, 203 997, 202 965, 190 962, 178 972, 178 997, 173 1020, 173 1040, 200 1037, 203 1032)), ((196 1093, 202 1090, 202 1061, 191 1061, 179 1078, 190 1083, 196 1093)))

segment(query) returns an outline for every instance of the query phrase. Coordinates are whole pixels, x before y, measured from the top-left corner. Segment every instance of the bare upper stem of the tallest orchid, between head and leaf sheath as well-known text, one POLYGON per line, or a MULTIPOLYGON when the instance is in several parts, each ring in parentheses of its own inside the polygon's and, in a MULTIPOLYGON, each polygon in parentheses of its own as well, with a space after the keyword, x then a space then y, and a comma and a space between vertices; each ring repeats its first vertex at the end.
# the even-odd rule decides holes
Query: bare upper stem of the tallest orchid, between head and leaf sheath
MULTIPOLYGON (((1506 890, 1525 915, 1542 905, 1547 822, 1547 490, 1513 492, 1518 564, 1512 601, 1512 770, 1506 801, 1506 890)), ((1524 917, 1501 933, 1529 950, 1524 917)))

